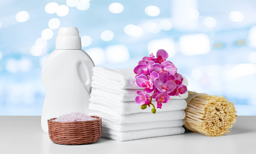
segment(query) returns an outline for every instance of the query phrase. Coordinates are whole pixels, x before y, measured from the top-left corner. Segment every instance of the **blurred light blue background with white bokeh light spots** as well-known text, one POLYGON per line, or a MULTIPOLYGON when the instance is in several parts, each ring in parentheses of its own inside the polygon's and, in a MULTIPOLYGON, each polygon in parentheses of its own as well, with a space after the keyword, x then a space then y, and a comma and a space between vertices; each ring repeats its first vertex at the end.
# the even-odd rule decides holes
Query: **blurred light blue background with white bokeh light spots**
POLYGON ((95 66, 133 68, 163 48, 189 90, 225 96, 238 115, 255 116, 255 14, 254 0, 0 0, 0 116, 41 115, 41 67, 59 27, 78 28, 95 66), (47 13, 52 2, 68 12, 47 13))

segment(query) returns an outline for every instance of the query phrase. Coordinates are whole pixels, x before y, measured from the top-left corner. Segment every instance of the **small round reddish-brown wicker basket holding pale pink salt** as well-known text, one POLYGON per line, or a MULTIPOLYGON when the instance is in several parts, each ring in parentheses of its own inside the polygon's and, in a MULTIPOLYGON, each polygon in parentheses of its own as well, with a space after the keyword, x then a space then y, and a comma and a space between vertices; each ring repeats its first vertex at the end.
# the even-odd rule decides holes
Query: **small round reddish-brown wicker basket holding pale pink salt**
POLYGON ((81 122, 54 122, 48 120, 49 137, 58 144, 78 145, 98 141, 102 135, 102 122, 98 116, 91 116, 97 120, 81 122))

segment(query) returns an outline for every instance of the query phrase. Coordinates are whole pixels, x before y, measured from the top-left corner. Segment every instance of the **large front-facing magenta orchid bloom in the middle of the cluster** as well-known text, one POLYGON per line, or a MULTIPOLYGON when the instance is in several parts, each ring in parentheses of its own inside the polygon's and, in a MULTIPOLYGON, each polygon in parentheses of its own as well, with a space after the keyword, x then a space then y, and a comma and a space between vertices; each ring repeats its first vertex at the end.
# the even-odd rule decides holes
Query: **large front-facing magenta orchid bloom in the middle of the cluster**
POLYGON ((160 92, 170 93, 176 88, 176 83, 173 80, 167 81, 167 73, 163 73, 157 80, 154 81, 154 85, 160 92))

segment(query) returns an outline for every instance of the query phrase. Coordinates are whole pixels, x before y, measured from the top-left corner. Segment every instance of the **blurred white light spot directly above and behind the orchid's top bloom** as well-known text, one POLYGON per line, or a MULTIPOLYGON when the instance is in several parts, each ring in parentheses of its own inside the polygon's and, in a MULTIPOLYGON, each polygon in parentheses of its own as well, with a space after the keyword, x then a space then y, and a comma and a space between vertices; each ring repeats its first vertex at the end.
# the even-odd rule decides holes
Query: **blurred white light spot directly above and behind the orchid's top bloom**
POLYGON ((172 39, 158 39, 153 40, 148 43, 148 53, 153 53, 154 56, 156 56, 156 51, 158 49, 164 49, 168 55, 169 58, 173 57, 175 55, 175 44, 172 39))

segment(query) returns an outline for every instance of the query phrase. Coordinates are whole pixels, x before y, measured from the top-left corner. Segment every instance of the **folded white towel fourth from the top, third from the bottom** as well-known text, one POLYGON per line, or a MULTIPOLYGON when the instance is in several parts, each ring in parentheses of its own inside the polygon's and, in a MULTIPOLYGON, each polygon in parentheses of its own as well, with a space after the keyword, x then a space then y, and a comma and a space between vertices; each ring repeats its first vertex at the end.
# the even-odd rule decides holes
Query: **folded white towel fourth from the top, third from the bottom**
POLYGON ((117 124, 136 123, 136 122, 153 122, 163 120, 181 120, 184 119, 186 114, 184 110, 179 111, 165 111, 153 113, 133 113, 120 115, 115 112, 104 111, 100 108, 97 111, 91 110, 91 116, 99 116, 117 124))

